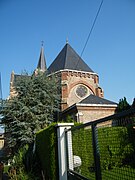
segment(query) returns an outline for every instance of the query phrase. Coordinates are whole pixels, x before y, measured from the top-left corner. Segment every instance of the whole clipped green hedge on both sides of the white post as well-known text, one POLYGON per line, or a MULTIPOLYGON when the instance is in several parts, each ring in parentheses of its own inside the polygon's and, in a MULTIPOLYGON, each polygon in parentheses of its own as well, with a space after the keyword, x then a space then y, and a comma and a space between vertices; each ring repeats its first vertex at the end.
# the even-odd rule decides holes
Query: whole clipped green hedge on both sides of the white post
MULTIPOLYGON (((45 179, 58 179, 58 152, 56 124, 51 124, 36 135, 36 150, 45 179)), ((127 127, 98 128, 100 164, 103 172, 114 169, 135 168, 135 132, 127 127)), ((91 129, 72 132, 73 154, 81 158, 82 164, 75 170, 95 179, 95 166, 91 129)))

